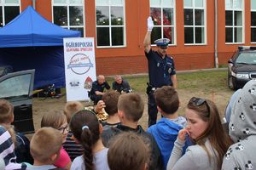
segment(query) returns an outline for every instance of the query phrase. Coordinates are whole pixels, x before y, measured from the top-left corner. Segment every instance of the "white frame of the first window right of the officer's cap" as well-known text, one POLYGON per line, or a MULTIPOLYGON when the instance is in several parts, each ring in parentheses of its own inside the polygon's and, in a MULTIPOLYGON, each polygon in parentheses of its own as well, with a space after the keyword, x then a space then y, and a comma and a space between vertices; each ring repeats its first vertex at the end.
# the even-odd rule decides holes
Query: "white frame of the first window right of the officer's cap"
MULTIPOLYGON (((186 46, 200 46, 200 45, 207 45, 207 0, 203 1, 203 7, 195 7, 195 0, 192 0, 192 7, 185 6, 184 0, 183 0, 183 14, 185 9, 192 9, 193 10, 193 26, 185 26, 184 21, 184 45, 186 46), (204 12, 204 25, 201 26, 195 26, 195 10, 196 9, 202 9, 204 12), (185 43, 185 28, 193 28, 193 43, 185 43), (196 43, 195 42, 195 28, 204 28, 204 42, 203 43, 196 43)), ((184 16, 184 15, 183 15, 184 16)), ((184 17, 183 17, 184 20, 184 17)))

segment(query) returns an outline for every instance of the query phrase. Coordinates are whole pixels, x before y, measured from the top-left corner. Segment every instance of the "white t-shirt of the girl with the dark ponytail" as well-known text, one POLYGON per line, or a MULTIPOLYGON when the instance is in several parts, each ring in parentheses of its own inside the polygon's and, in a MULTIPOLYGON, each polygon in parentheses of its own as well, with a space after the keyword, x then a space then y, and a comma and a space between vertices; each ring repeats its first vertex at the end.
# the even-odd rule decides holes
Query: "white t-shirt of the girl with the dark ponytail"
MULTIPOLYGON (((105 148, 104 150, 101 150, 97 152, 93 156, 93 163, 96 166, 96 170, 109 170, 108 167, 108 148, 105 148)), ((71 170, 85 170, 84 165, 84 157, 78 156, 76 157, 72 164, 71 164, 71 170)))

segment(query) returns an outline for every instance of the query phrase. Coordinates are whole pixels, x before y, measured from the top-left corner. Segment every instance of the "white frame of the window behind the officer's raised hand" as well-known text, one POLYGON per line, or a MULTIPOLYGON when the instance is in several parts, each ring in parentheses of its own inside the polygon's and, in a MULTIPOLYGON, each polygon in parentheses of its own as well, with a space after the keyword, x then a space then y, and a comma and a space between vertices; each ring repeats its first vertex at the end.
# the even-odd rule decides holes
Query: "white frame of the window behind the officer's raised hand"
MULTIPOLYGON (((149 11, 151 11, 151 8, 160 8, 161 9, 161 25, 160 26, 154 26, 154 27, 159 27, 161 29, 161 37, 160 38, 164 38, 164 27, 171 27, 173 28, 173 43, 169 43, 168 46, 176 46, 177 45, 177 23, 176 23, 176 0, 172 0, 173 3, 173 7, 164 7, 163 6, 163 0, 160 0, 161 4, 160 6, 158 5, 151 5, 150 4, 150 0, 149 0, 149 11), (173 8, 173 25, 168 25, 168 26, 164 26, 163 24, 163 8, 173 8)), ((151 12, 150 12, 151 13, 151 12)), ((172 42, 172 40, 171 40, 172 42)), ((151 46, 156 46, 155 43, 151 44, 151 46)))

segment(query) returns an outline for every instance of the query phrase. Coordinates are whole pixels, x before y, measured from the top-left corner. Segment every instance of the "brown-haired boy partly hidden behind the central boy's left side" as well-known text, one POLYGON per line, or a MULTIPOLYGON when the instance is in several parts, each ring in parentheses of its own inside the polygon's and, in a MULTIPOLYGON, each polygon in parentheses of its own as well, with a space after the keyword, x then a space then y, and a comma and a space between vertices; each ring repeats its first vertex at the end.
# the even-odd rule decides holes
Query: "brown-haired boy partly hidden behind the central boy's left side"
POLYGON ((102 100, 106 105, 105 111, 108 113, 108 119, 105 122, 102 122, 103 129, 116 127, 120 124, 117 106, 119 95, 120 94, 116 91, 110 91, 102 96, 102 100))

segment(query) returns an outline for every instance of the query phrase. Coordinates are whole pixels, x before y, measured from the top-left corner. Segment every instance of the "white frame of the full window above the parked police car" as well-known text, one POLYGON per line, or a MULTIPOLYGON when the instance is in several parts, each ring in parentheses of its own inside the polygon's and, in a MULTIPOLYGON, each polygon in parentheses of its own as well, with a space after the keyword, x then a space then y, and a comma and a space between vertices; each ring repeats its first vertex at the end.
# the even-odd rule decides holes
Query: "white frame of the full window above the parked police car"
MULTIPOLYGON (((227 0, 224 1, 226 3, 227 0)), ((226 37, 226 28, 232 28, 232 40, 233 42, 226 42, 225 44, 243 44, 245 42, 245 33, 244 33, 244 22, 245 22, 245 6, 244 6, 244 0, 241 0, 241 9, 239 8, 234 8, 234 0, 232 1, 232 8, 226 8, 225 5, 225 13, 226 11, 232 11, 232 26, 226 26, 225 23, 225 37, 226 37), (241 12, 241 26, 235 26, 235 11, 240 11, 241 12), (234 42, 235 41, 235 28, 241 28, 241 42, 234 42)))

